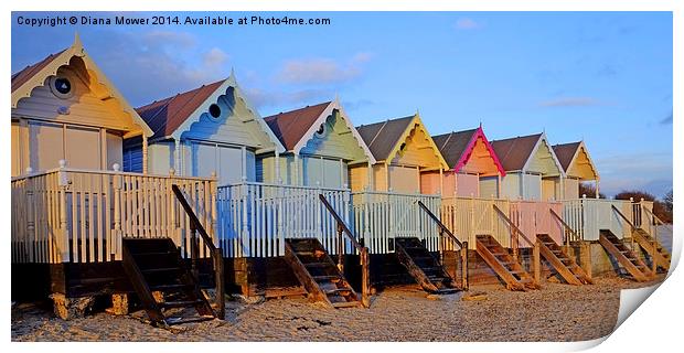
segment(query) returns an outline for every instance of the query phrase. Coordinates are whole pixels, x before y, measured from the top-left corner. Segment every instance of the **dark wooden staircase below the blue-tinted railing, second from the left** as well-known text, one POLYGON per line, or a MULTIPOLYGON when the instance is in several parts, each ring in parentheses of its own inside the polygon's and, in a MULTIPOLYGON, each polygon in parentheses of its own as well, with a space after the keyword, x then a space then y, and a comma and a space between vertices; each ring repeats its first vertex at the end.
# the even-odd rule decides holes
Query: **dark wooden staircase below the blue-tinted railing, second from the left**
POLYGON ((312 300, 327 302, 332 308, 363 307, 318 239, 285 239, 285 260, 312 300))

